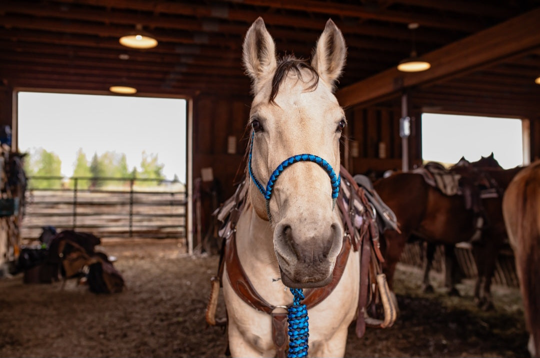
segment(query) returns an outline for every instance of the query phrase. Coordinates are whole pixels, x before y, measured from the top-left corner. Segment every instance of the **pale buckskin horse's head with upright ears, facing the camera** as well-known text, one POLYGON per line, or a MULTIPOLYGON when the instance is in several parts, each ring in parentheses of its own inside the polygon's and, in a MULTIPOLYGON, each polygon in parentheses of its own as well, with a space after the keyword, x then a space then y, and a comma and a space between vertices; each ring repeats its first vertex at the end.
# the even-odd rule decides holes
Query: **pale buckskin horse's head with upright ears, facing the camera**
POLYGON ((243 57, 254 93, 251 202, 259 217, 271 219, 283 283, 324 286, 332 279, 342 245, 334 199, 346 122, 333 89, 345 64, 345 40, 328 20, 311 63, 278 60, 274 40, 259 18, 247 32, 243 57), (300 159, 300 154, 311 156, 300 159))

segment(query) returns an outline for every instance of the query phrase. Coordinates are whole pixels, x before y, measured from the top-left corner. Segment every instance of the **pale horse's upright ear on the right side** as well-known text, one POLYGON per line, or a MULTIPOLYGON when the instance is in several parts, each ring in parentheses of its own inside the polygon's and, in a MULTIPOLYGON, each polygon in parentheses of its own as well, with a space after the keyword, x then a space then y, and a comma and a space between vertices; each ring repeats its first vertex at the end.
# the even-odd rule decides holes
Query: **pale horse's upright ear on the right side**
POLYGON ((343 70, 346 57, 345 39, 338 26, 332 19, 328 19, 325 31, 317 40, 311 65, 319 73, 319 77, 333 86, 343 70))

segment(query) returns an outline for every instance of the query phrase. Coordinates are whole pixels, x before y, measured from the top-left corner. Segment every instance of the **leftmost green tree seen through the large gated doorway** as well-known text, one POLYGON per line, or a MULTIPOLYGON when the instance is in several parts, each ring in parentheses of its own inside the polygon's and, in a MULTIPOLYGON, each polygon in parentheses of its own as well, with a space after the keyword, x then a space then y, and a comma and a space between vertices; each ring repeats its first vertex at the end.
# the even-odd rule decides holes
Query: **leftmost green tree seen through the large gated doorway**
MULTIPOLYGON (((55 153, 39 148, 25 162, 25 170, 27 175, 34 177, 59 177, 62 176, 62 161, 55 153)), ((30 185, 35 189, 59 189, 62 187, 62 181, 34 178, 30 185)))

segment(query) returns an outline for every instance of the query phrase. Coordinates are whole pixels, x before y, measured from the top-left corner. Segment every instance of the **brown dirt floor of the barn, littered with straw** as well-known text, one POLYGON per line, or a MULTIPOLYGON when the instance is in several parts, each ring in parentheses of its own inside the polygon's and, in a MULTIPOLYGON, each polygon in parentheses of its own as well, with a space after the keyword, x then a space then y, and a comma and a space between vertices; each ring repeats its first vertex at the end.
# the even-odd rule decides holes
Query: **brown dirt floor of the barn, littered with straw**
MULTIPOLYGON (((60 283, 25 285, 22 274, 0 279, 0 356, 224 356, 226 334, 204 320, 217 257, 188 257, 177 240, 111 240, 100 249, 118 258, 123 293, 96 295, 75 280, 61 290, 60 283)), ((442 289, 421 293, 420 278, 399 267, 398 320, 368 328, 362 339, 351 327, 346 356, 528 356, 517 290, 495 286, 496 311, 486 313, 473 303, 471 281, 458 287, 462 297, 447 297, 442 289)))

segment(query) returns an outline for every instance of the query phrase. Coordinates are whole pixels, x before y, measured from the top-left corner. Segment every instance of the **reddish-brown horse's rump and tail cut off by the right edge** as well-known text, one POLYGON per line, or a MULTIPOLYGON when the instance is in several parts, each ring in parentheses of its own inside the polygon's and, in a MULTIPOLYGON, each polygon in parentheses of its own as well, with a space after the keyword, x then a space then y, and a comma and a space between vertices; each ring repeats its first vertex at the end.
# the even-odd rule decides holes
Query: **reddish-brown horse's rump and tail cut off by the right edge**
POLYGON ((529 352, 540 357, 540 161, 512 180, 504 193, 503 215, 516 259, 529 352))

